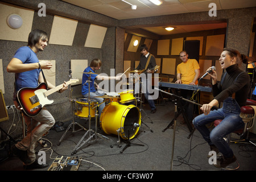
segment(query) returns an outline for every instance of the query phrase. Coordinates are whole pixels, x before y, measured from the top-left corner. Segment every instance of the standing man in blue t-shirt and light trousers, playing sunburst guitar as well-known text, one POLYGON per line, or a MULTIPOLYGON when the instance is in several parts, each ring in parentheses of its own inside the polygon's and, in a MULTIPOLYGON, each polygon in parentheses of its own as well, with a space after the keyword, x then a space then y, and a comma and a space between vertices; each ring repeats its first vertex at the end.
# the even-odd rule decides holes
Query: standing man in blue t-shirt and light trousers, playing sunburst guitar
MULTIPOLYGON (((15 73, 15 93, 19 89, 25 87, 35 88, 39 83, 44 82, 41 69, 51 69, 52 63, 50 61, 40 61, 36 53, 43 51, 47 46, 48 37, 46 32, 42 30, 31 31, 28 36, 28 46, 20 47, 13 59, 7 65, 7 72, 15 73)), ((47 81, 48 88, 54 88, 50 82, 47 81)), ((67 84, 63 84, 63 88, 59 92, 63 92, 68 88, 67 84)), ((18 107, 16 100, 14 104, 18 107)), ((47 164, 39 164, 35 155, 35 143, 43 134, 45 134, 55 124, 55 119, 51 113, 43 107, 39 114, 34 117, 26 117, 27 135, 20 142, 16 143, 11 152, 22 160, 26 169, 45 168, 47 164)))

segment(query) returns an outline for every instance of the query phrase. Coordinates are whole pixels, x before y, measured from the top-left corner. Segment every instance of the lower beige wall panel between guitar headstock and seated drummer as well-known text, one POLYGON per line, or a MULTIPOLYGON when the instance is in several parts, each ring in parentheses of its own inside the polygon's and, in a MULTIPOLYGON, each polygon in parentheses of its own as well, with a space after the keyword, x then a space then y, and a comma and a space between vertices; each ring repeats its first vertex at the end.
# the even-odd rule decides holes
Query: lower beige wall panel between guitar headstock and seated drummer
POLYGON ((82 84, 82 72, 84 69, 88 67, 88 60, 71 60, 71 71, 72 71, 72 78, 78 78, 79 81, 72 83, 71 85, 79 85, 82 84))

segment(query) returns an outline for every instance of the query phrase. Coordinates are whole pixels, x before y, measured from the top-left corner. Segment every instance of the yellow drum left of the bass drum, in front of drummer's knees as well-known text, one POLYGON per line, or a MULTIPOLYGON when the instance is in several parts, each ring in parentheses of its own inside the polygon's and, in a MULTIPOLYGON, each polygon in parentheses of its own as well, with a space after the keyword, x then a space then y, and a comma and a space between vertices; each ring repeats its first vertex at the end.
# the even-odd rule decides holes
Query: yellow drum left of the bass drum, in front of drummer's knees
MULTIPOLYGON (((90 117, 94 118, 96 114, 96 109, 95 107, 98 105, 98 102, 94 99, 90 99, 90 117), (94 107, 94 109, 93 109, 94 107)), ((89 118, 89 101, 88 98, 79 98, 76 101, 76 113, 78 117, 82 118, 89 118)))

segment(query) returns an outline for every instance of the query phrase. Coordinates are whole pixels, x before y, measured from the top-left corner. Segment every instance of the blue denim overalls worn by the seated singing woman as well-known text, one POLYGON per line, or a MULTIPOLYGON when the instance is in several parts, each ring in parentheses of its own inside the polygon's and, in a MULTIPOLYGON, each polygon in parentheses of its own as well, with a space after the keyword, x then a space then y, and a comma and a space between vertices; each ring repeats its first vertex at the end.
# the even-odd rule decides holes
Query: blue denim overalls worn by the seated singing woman
POLYGON ((240 106, 236 100, 229 97, 226 98, 221 109, 210 111, 208 115, 201 114, 193 119, 193 125, 208 144, 214 144, 218 148, 224 158, 231 158, 234 154, 224 137, 241 129, 244 123, 240 117, 240 106), (205 125, 216 119, 222 119, 222 121, 210 131, 205 125))

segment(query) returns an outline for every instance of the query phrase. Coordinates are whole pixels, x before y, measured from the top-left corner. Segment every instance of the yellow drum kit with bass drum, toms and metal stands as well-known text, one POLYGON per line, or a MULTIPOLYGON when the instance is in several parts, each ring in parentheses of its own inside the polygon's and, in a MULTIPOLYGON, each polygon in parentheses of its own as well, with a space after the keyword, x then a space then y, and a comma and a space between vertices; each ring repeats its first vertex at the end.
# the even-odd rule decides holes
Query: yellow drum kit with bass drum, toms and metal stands
MULTIPOLYGON (((92 72, 83 72, 89 75, 88 80, 86 82, 90 82, 90 75, 96 74, 92 72)), ((71 77, 71 74, 69 75, 71 77)), ((85 84, 86 84, 85 82, 85 84)), ((61 137, 63 140, 67 131, 71 128, 73 132, 85 130, 86 133, 80 139, 79 143, 77 143, 76 147, 73 149, 72 155, 76 154, 77 150, 84 146, 84 144, 92 142, 91 140, 97 140, 98 138, 104 139, 106 142, 110 143, 110 147, 113 147, 113 140, 105 137, 102 134, 97 133, 97 120, 98 120, 98 106, 105 103, 106 106, 102 110, 100 114, 100 127, 104 131, 105 134, 114 134, 118 135, 118 145, 121 147, 121 139, 125 140, 127 143, 123 152, 127 147, 131 146, 130 140, 133 139, 139 131, 139 127, 141 126, 141 110, 137 107, 137 101, 139 101, 140 97, 134 97, 134 90, 125 90, 120 93, 116 92, 105 92, 103 96, 97 96, 98 98, 104 98, 104 101, 98 103, 97 100, 90 98, 90 84, 88 98, 79 98, 77 100, 72 100, 72 90, 70 90, 71 101, 72 101, 72 113, 73 113, 73 121, 68 126, 67 130, 61 137), (73 109, 73 102, 75 102, 75 109, 73 109), (80 123, 75 122, 75 115, 79 118, 84 118, 89 120, 89 129, 85 129, 84 126, 80 125, 80 123), (95 119, 95 131, 91 128, 91 118, 95 119), (81 129, 75 131, 75 125, 81 127, 81 129), (88 139, 84 140, 86 135, 89 135, 88 139)), ((104 90, 104 89, 102 89, 104 90)), ((107 90, 104 90, 107 91, 107 90)), ((141 105, 142 107, 142 105, 141 105)), ((145 123, 144 123, 145 124, 145 123)), ((145 124, 146 125, 146 124, 145 124)), ((147 125, 146 125, 147 126, 147 125)), ((148 126, 147 126, 148 127, 148 126)), ((148 127, 150 128, 150 127, 148 127)), ((151 129, 150 129, 151 130, 151 129)), ((152 130, 151 130, 152 132, 152 130)), ((93 141, 94 141, 93 140, 93 141)), ((142 144, 134 144, 143 146, 142 144)))

